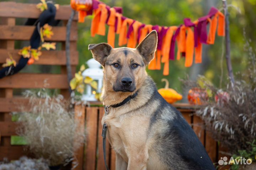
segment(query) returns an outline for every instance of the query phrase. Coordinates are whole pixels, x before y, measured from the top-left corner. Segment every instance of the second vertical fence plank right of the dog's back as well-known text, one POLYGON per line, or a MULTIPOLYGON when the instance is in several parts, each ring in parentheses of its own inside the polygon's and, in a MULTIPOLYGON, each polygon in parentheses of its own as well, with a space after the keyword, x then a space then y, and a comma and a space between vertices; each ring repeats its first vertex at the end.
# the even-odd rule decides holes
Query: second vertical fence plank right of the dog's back
POLYGON ((193 130, 204 146, 204 128, 200 117, 193 115, 193 130))

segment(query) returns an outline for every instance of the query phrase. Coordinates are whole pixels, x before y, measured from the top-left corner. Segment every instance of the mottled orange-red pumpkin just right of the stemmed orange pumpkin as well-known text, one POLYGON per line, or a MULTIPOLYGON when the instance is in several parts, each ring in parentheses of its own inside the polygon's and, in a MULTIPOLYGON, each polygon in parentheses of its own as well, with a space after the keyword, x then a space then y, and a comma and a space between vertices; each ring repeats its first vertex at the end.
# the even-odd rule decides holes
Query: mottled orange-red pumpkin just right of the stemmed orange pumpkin
POLYGON ((188 91, 188 102, 193 105, 202 105, 208 100, 208 94, 200 88, 192 88, 188 91))

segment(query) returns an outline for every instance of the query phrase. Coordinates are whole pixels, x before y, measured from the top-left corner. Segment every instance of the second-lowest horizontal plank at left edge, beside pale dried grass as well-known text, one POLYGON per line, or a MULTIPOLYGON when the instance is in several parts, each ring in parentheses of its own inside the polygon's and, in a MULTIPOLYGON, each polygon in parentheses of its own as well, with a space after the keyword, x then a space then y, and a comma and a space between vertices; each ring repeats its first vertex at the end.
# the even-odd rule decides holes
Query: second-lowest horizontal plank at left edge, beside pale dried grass
POLYGON ((18 124, 16 122, 9 122, 9 121, 0 122, 1 136, 5 137, 5 136, 17 135, 16 134, 17 127, 18 127, 18 124))

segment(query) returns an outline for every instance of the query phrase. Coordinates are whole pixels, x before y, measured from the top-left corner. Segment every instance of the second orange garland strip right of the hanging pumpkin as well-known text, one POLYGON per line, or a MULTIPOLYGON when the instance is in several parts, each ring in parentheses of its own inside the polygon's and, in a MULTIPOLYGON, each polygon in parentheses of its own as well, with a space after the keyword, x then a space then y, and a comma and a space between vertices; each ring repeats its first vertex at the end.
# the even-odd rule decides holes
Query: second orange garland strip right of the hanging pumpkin
POLYGON ((98 24, 97 34, 105 35, 106 33, 105 24, 108 17, 108 11, 106 9, 106 4, 99 4, 99 7, 101 7, 101 16, 100 16, 100 23, 98 24))

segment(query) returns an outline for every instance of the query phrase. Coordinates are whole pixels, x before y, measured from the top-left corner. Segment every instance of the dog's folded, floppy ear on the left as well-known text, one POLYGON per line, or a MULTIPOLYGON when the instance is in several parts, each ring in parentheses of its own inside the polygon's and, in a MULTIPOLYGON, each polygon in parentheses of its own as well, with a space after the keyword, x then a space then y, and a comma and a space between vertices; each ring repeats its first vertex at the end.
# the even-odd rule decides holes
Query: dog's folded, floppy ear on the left
POLYGON ((91 50, 94 59, 104 66, 112 47, 107 43, 89 44, 88 50, 91 50))

